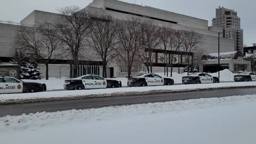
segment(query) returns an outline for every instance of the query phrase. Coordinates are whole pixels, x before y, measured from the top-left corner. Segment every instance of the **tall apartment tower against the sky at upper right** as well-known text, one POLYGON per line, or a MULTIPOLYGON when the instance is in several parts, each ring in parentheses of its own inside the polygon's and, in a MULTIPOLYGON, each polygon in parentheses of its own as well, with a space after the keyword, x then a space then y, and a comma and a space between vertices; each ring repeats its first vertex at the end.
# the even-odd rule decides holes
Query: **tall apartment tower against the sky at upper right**
POLYGON ((212 25, 222 26, 223 37, 234 39, 234 51, 243 52, 243 29, 236 11, 219 6, 219 9, 216 9, 216 17, 212 19, 212 25))

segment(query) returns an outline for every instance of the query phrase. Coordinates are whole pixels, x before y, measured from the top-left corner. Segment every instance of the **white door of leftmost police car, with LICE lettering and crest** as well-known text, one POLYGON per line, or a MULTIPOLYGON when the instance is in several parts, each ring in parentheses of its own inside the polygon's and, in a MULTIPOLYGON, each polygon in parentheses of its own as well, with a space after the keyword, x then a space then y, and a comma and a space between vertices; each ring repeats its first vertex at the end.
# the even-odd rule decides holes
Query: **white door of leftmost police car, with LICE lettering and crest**
POLYGON ((4 78, 5 93, 22 93, 23 84, 15 78, 4 78))

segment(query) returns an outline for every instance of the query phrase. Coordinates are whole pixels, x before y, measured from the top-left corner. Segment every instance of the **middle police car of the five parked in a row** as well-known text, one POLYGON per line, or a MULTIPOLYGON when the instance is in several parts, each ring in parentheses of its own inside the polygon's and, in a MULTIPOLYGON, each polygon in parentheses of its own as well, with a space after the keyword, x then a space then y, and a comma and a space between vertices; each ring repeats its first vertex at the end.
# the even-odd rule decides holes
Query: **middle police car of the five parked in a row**
POLYGON ((173 85, 172 78, 163 78, 156 74, 144 74, 128 79, 127 86, 158 86, 158 85, 173 85))

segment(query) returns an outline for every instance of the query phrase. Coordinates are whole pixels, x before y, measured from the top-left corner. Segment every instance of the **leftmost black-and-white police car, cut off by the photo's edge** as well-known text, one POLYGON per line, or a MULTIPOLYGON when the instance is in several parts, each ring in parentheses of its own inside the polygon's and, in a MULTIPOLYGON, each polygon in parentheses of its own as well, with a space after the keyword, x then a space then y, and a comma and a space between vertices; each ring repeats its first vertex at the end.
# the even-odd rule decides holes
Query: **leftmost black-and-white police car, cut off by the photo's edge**
POLYGON ((33 93, 46 91, 41 83, 23 82, 13 77, 0 76, 0 93, 33 93))

